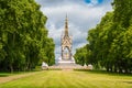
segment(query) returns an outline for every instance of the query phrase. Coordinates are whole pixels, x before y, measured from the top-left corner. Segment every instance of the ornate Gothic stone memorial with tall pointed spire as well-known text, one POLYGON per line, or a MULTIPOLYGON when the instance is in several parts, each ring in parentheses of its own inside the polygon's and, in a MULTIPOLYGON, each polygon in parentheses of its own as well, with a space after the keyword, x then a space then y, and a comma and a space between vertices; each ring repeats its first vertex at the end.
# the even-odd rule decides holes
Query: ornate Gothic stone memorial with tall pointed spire
POLYGON ((75 64, 75 59, 72 54, 73 40, 68 34, 68 18, 66 15, 65 20, 65 31, 61 36, 61 57, 57 61, 57 64, 75 64))

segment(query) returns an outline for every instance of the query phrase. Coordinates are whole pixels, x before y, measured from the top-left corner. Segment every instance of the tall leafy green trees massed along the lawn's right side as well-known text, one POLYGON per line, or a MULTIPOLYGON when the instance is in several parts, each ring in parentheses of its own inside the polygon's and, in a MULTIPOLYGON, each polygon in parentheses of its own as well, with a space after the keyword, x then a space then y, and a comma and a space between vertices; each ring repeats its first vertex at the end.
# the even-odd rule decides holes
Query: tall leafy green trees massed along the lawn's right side
MULTIPOLYGON (((95 29, 88 31, 87 59, 108 72, 132 72, 132 0, 114 0, 95 29)), ((82 59, 84 61, 84 59, 82 59)))

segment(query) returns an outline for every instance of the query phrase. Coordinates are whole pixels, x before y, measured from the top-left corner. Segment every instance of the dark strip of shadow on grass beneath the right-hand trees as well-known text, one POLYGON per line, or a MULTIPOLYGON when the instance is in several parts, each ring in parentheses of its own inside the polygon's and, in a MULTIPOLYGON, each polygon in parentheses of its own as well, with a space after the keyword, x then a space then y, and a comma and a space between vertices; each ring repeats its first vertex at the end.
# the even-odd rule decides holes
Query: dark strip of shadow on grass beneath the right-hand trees
POLYGON ((103 74, 103 75, 110 75, 110 76, 130 76, 132 77, 132 74, 123 74, 123 73, 111 73, 107 70, 89 70, 89 69, 74 69, 75 72, 86 72, 91 74, 103 74))

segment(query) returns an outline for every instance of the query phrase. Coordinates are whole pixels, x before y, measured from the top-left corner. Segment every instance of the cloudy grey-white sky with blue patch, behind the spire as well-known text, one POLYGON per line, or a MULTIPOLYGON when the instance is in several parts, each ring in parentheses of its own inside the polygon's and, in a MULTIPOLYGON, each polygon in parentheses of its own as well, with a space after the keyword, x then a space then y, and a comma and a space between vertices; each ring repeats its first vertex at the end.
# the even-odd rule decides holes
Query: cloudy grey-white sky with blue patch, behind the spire
POLYGON ((112 11, 112 0, 35 0, 41 11, 48 18, 48 36, 56 44, 56 58, 61 56, 61 34, 68 15, 69 35, 73 36, 73 53, 87 44, 88 30, 95 28, 108 11, 112 11))

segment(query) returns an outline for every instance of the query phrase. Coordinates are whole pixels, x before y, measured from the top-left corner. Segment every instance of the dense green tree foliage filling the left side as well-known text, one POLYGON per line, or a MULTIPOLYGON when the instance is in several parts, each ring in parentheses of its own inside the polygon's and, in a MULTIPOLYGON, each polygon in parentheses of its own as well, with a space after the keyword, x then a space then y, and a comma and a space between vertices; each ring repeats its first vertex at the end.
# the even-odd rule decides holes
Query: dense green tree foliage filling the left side
POLYGON ((34 0, 0 0, 0 70, 33 69, 40 61, 54 64, 55 44, 40 8, 34 0))

